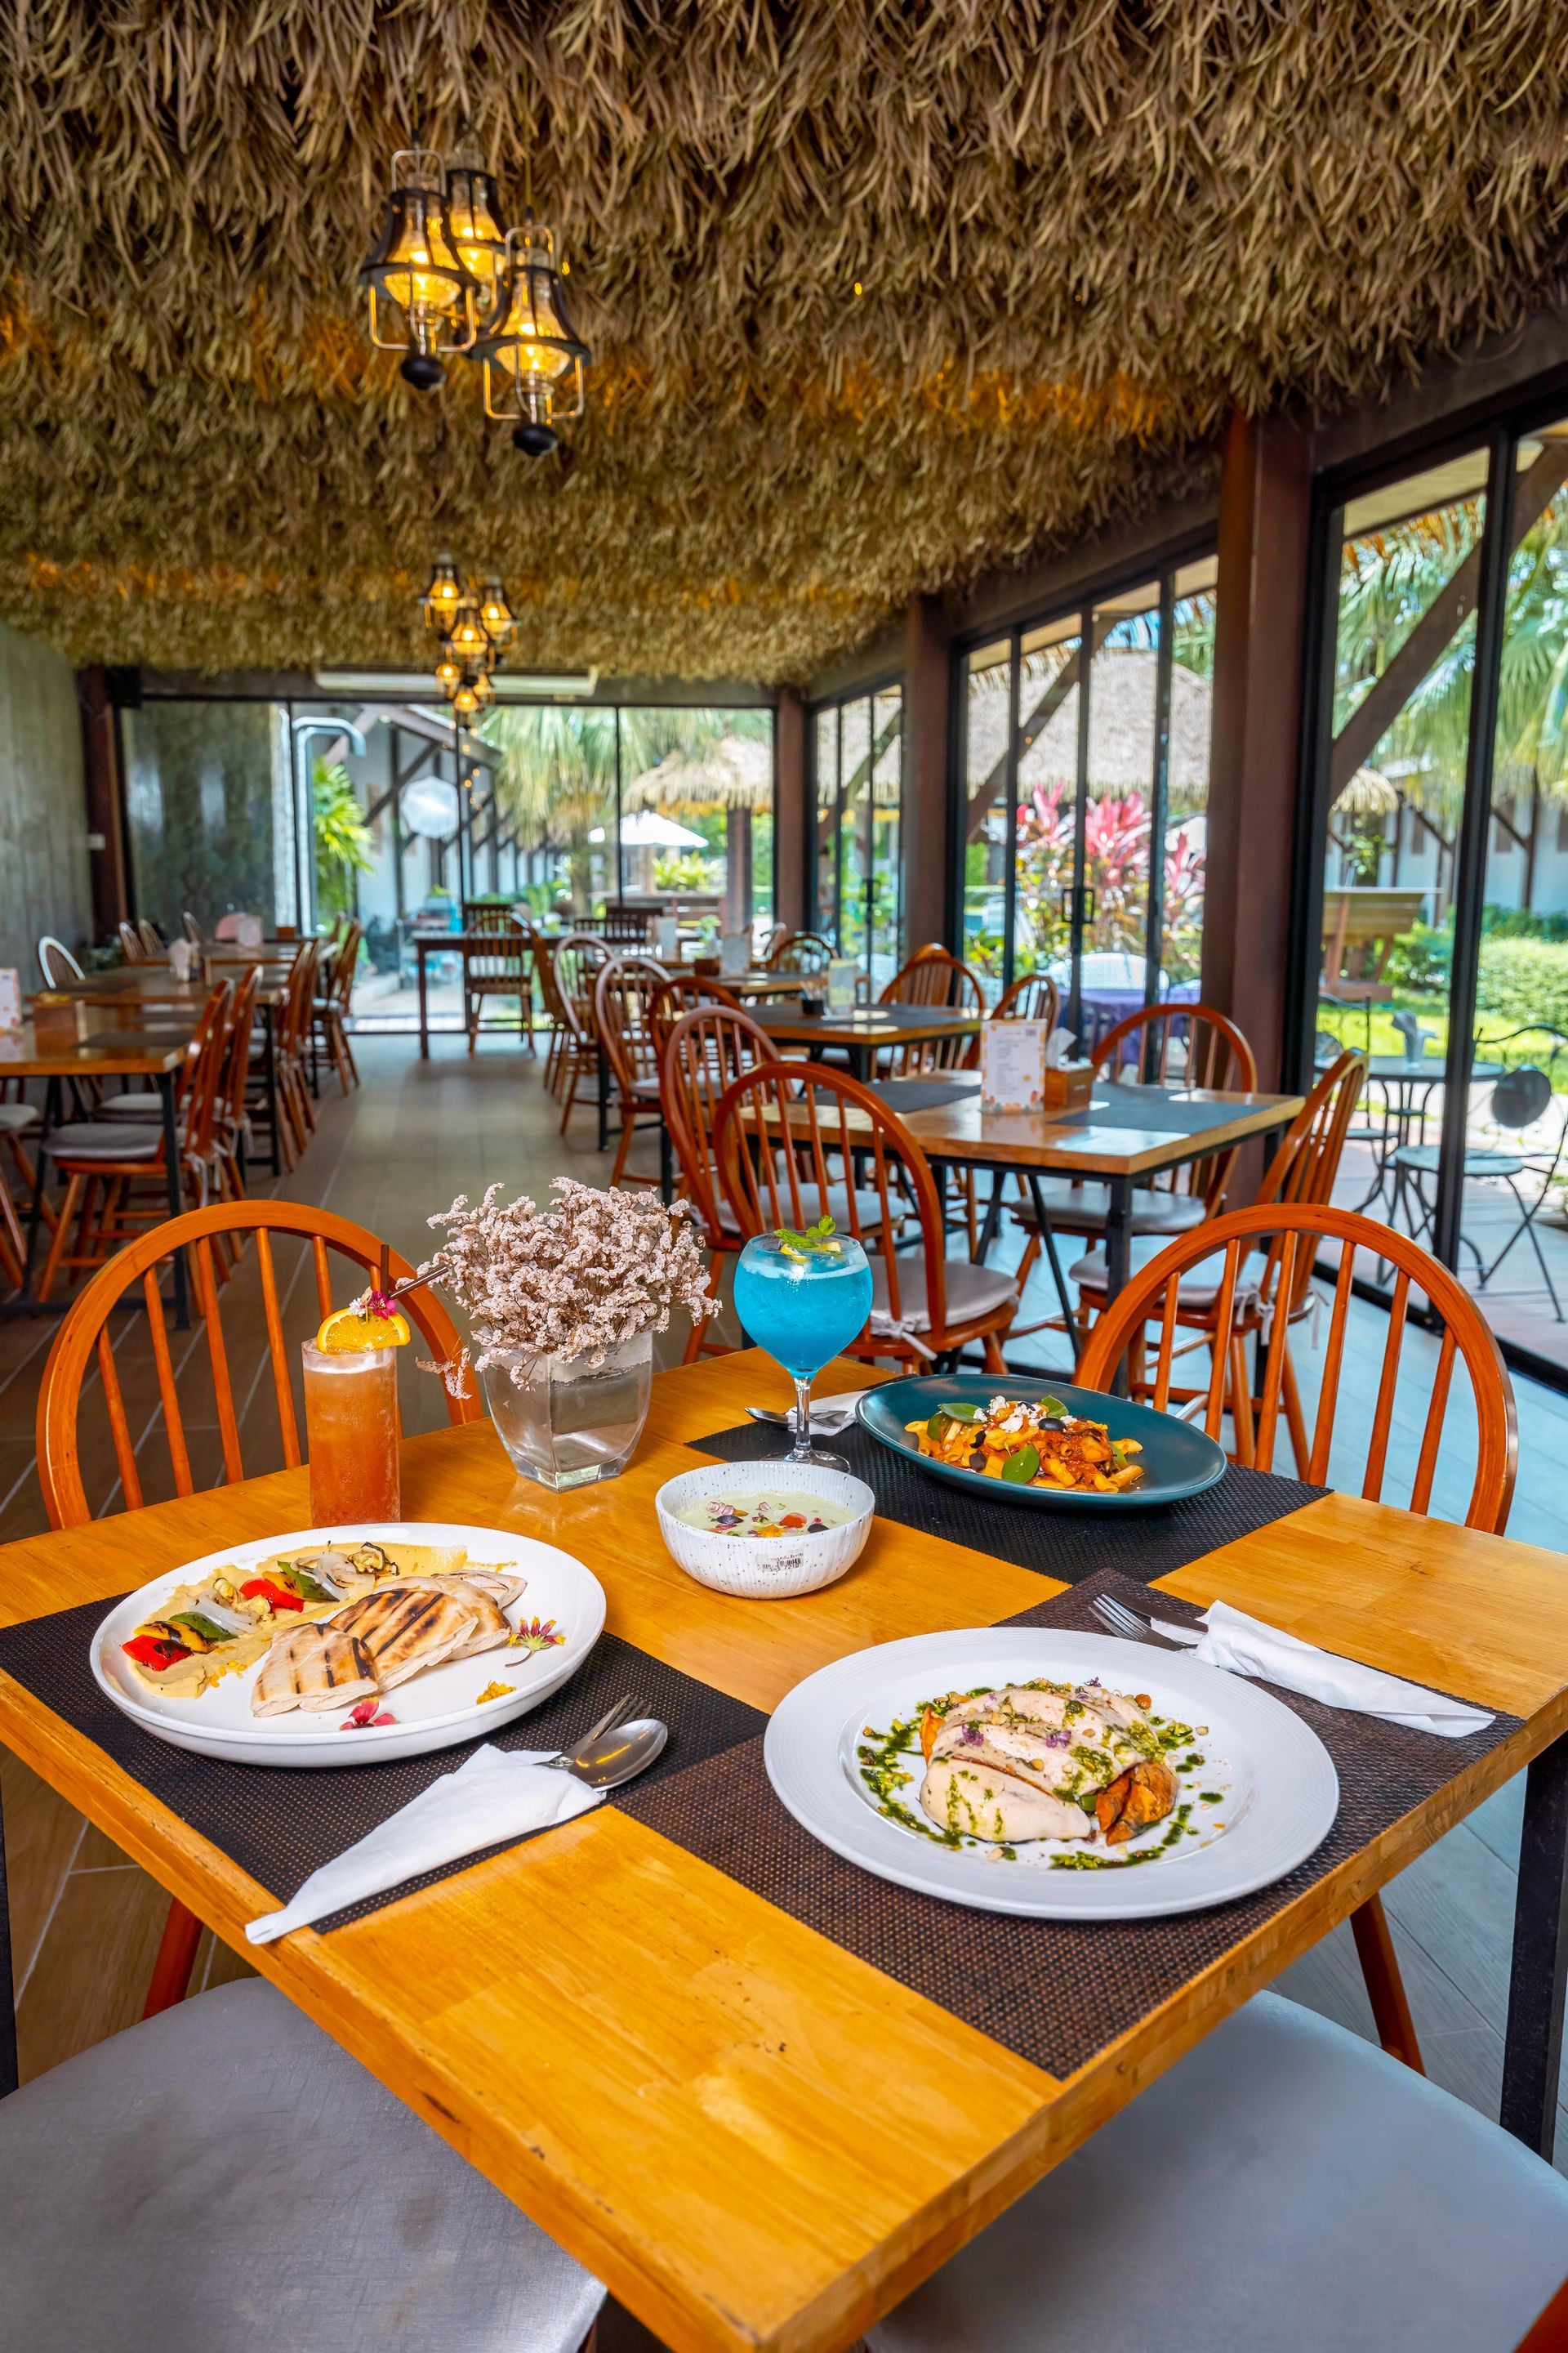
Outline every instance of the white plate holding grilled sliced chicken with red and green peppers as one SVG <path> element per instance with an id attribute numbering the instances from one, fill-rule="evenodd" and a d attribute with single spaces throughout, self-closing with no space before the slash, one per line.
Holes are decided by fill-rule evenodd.
<path id="1" fill-rule="evenodd" d="M 564 1640 L 538 1652 L 482 1649 L 473 1659 L 409 1675 L 386 1699 L 397 1718 L 395 1725 L 350 1729 L 343 1729 L 348 1708 L 322 1715 L 303 1711 L 252 1715 L 252 1682 L 261 1673 L 261 1659 L 240 1675 L 223 1675 L 195 1699 L 174 1699 L 153 1692 L 120 1649 L 143 1619 L 158 1617 L 174 1586 L 193 1586 L 209 1569 L 223 1567 L 247 1574 L 277 1553 L 320 1553 L 334 1537 L 339 1544 L 350 1541 L 343 1529 L 303 1527 L 254 1544 L 230 1544 L 221 1553 L 205 1553 L 179 1569 L 165 1569 L 110 1609 L 94 1633 L 92 1671 L 99 1689 L 160 1741 L 228 1758 L 233 1765 L 369 1765 L 383 1758 L 425 1755 L 430 1748 L 451 1748 L 498 1732 L 557 1692 L 604 1631 L 604 1586 L 592 1569 L 555 1544 L 536 1544 L 534 1537 L 503 1527 L 465 1527 L 456 1520 L 378 1520 L 355 1527 L 353 1541 L 386 1544 L 390 1551 L 397 1544 L 461 1544 L 475 1567 L 484 1562 L 527 1577 L 524 1591 L 505 1612 L 512 1626 L 555 1619 L 555 1631 Z M 489 1682 L 510 1682 L 515 1689 L 508 1699 L 487 1699 L 477 1706 Z"/>

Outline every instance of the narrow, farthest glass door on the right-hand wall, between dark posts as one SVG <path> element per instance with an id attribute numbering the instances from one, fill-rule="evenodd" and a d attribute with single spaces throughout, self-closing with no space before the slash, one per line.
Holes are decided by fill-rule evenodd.
<path id="1" fill-rule="evenodd" d="M 903 687 L 879 687 L 811 718 L 811 929 L 870 974 L 872 995 L 903 962 Z"/>

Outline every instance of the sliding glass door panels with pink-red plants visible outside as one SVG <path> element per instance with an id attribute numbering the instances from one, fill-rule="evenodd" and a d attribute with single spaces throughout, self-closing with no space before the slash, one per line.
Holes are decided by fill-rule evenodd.
<path id="1" fill-rule="evenodd" d="M 1048 972 L 1086 1042 L 1197 998 L 1213 558 L 964 656 L 961 946 L 987 995 Z"/>

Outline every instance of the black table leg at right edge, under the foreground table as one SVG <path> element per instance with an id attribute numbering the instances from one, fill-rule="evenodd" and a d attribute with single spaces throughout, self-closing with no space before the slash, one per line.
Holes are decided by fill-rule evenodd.
<path id="1" fill-rule="evenodd" d="M 1556 2132 L 1568 1984 L 1568 1734 L 1526 1772 L 1502 2125 L 1547 2165 Z"/>

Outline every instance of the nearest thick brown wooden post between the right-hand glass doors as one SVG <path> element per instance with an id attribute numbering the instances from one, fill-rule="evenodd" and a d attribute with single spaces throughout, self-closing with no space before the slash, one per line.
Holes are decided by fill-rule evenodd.
<path id="1" fill-rule="evenodd" d="M 1220 473 L 1204 1002 L 1241 1024 L 1265 1089 L 1279 1085 L 1284 1045 L 1309 511 L 1300 426 L 1232 416 Z"/>

